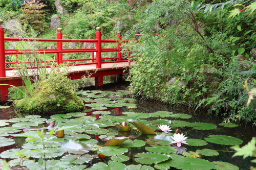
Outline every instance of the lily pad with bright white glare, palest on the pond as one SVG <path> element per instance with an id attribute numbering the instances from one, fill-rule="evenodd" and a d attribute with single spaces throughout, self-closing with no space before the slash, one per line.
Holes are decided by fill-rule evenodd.
<path id="1" fill-rule="evenodd" d="M 65 140 L 61 142 L 61 151 L 70 154 L 86 154 L 92 149 L 90 144 L 84 144 L 77 140 Z"/>

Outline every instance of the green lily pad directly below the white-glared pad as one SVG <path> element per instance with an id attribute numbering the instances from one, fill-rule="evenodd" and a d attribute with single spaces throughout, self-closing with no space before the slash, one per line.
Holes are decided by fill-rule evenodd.
<path id="1" fill-rule="evenodd" d="M 79 165 L 83 163 L 88 163 L 92 159 L 93 158 L 91 155 L 86 154 L 86 155 L 66 155 L 66 156 L 63 156 L 60 160 Z"/>

